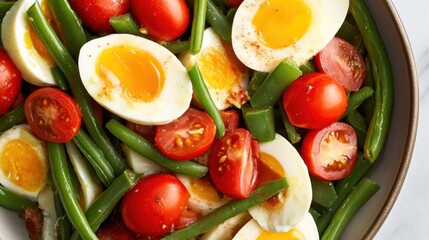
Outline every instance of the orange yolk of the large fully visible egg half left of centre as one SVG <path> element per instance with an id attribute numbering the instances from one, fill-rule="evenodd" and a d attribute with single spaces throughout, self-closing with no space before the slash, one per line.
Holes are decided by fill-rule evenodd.
<path id="1" fill-rule="evenodd" d="M 119 85 L 123 96 L 139 102 L 157 98 L 165 82 L 164 69 L 151 53 L 125 45 L 104 50 L 98 57 L 96 73 L 107 90 Z"/>

